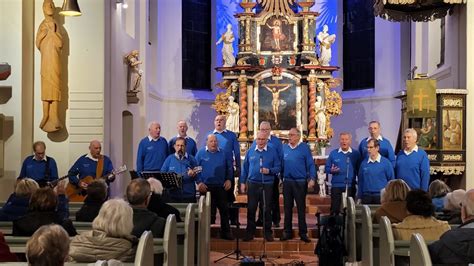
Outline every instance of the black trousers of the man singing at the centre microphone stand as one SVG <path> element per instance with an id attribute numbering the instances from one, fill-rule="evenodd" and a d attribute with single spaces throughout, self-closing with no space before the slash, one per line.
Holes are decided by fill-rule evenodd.
<path id="1" fill-rule="evenodd" d="M 265 191 L 265 193 L 263 193 Z M 272 203 L 273 184 L 248 183 L 247 189 L 247 236 L 255 235 L 255 214 L 257 206 L 264 206 L 265 194 L 265 224 L 263 225 L 265 236 L 272 235 L 272 220 L 270 215 L 270 206 Z M 262 208 L 263 209 L 263 208 Z"/>

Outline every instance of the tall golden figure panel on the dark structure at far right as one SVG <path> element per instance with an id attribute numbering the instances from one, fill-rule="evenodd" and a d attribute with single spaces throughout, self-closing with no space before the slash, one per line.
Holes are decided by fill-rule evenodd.
<path id="1" fill-rule="evenodd" d="M 443 149 L 462 150 L 462 110 L 443 110 Z"/>

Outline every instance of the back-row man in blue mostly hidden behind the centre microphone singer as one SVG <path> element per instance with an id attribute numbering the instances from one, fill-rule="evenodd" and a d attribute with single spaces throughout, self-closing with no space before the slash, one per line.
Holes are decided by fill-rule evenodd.
<path id="1" fill-rule="evenodd" d="M 270 125 L 270 122 L 268 121 L 262 121 L 260 123 L 259 127 L 260 131 L 265 133 L 268 136 L 268 145 L 274 148 L 279 157 L 280 157 L 280 163 L 281 160 L 283 159 L 283 145 L 281 144 L 281 140 L 272 135 L 272 127 Z M 257 142 L 254 140 L 252 143 L 252 146 L 250 149 L 255 149 L 255 146 L 257 145 Z M 280 214 L 280 173 L 275 175 L 275 180 L 273 182 L 273 198 L 272 198 L 272 208 L 271 208 L 271 215 L 272 215 L 272 222 L 274 227 L 279 227 L 280 226 L 280 220 L 281 220 L 281 214 Z M 262 226 L 262 217 L 263 217 L 263 208 L 259 208 L 258 212 L 258 219 L 257 219 L 257 226 Z"/>

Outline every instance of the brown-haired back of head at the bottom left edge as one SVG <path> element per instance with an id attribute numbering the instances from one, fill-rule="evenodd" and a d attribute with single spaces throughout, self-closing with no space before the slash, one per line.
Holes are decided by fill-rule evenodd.
<path id="1" fill-rule="evenodd" d="M 59 225 L 43 225 L 26 243 L 29 265 L 62 266 L 68 258 L 69 236 Z"/>

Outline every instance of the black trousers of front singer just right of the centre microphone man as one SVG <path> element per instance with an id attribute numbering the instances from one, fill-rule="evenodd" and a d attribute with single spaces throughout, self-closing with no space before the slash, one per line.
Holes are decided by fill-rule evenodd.
<path id="1" fill-rule="evenodd" d="M 285 211 L 284 232 L 292 235 L 293 203 L 296 202 L 298 210 L 298 229 L 300 237 L 306 236 L 308 227 L 306 225 L 306 193 L 308 192 L 307 182 L 283 182 L 283 206 Z"/>

